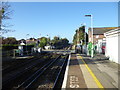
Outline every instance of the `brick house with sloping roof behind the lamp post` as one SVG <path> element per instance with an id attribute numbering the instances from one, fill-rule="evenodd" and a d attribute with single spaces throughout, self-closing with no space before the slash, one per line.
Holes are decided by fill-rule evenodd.
<path id="1" fill-rule="evenodd" d="M 117 29 L 118 27 L 98 27 L 93 28 L 93 42 L 94 45 L 97 46 L 97 52 L 98 53 L 104 53 L 102 47 L 105 47 L 106 44 L 106 37 L 104 36 L 105 32 L 108 32 L 113 29 Z M 91 28 L 88 29 L 88 41 L 92 42 L 92 32 Z"/>

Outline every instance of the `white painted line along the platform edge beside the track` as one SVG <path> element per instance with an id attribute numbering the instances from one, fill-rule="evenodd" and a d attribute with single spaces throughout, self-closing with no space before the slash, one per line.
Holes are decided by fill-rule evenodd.
<path id="1" fill-rule="evenodd" d="M 64 80 L 63 80 L 63 83 L 62 83 L 62 89 L 61 90 L 65 90 L 65 88 L 66 88 L 70 58 L 71 58 L 71 54 L 69 55 L 69 58 L 68 58 L 68 62 L 67 62 L 65 75 L 64 75 Z"/>

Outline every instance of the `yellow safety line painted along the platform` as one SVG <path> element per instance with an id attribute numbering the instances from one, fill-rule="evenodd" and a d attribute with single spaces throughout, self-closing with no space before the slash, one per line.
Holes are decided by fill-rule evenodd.
<path id="1" fill-rule="evenodd" d="M 92 72 L 92 70 L 88 67 L 88 65 L 85 63 L 85 61 L 83 60 L 82 56 L 80 56 L 80 58 L 82 59 L 82 62 L 85 64 L 86 68 L 88 69 L 89 73 L 91 74 L 91 76 L 93 77 L 94 81 L 96 82 L 97 86 L 99 88 L 101 88 L 102 90 L 104 90 L 102 84 L 99 82 L 99 80 L 97 79 L 97 77 L 94 75 L 94 73 Z"/>

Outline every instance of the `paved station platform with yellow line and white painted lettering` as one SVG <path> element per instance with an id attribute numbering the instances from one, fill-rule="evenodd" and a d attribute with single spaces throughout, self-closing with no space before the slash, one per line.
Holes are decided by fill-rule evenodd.
<path id="1" fill-rule="evenodd" d="M 62 89 L 73 88 L 118 90 L 118 64 L 100 55 L 70 54 Z"/>

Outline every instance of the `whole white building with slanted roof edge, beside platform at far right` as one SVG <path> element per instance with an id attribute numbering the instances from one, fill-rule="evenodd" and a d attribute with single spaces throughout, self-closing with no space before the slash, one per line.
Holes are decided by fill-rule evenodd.
<path id="1" fill-rule="evenodd" d="M 104 33 L 106 37 L 106 50 L 105 56 L 109 57 L 109 60 L 120 64 L 119 55 L 119 40 L 120 40 L 120 28 L 110 30 Z"/>

